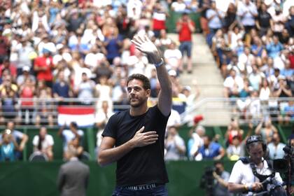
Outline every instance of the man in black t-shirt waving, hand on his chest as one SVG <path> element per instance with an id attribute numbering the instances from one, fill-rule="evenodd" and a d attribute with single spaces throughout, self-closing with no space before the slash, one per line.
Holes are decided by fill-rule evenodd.
<path id="1" fill-rule="evenodd" d="M 111 116 L 102 134 L 99 165 L 117 162 L 113 195 L 167 195 L 164 162 L 165 129 L 172 108 L 172 83 L 158 49 L 146 36 L 135 36 L 135 47 L 155 64 L 160 81 L 158 104 L 149 108 L 150 81 L 142 74 L 127 79 L 130 110 Z"/>

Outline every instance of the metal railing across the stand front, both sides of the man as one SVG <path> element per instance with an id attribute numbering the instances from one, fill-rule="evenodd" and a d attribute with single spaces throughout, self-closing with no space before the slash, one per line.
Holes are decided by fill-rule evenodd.
<path id="1" fill-rule="evenodd" d="M 57 125 L 58 107 L 87 107 L 97 112 L 101 108 L 101 100 L 96 98 L 85 100 L 78 98 L 68 99 L 22 99 L 16 98 L 13 109 L 1 105 L 0 118 L 4 122 L 13 119 L 18 125 L 34 125 L 36 119 L 40 118 L 42 124 L 48 124 L 52 120 L 53 125 Z M 153 102 L 154 100 L 151 100 Z M 294 97 L 270 98 L 268 100 L 248 99 L 248 98 L 205 98 L 195 102 L 192 106 L 187 106 L 186 111 L 181 113 L 182 123 L 191 123 L 195 115 L 204 116 L 203 125 L 228 125 L 231 118 L 239 119 L 240 123 L 248 123 L 248 120 L 258 121 L 264 118 L 271 118 L 277 121 L 283 114 L 283 109 L 288 102 L 294 101 Z M 113 111 L 129 109 L 127 104 L 116 104 L 109 100 L 110 108 Z M 113 103 L 113 104 L 112 104 Z M 24 105 L 26 104 L 26 105 Z M 256 108 L 254 108 L 256 107 Z M 2 122 L 3 123 L 3 122 Z"/>

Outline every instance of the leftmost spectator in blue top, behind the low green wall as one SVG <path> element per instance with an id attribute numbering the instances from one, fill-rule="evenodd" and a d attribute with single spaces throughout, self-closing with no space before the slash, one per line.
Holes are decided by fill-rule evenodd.
<path id="1" fill-rule="evenodd" d="M 10 130 L 5 130 L 1 134 L 0 141 L 0 162 L 11 162 L 17 160 L 15 152 L 18 150 L 16 143 Z"/>

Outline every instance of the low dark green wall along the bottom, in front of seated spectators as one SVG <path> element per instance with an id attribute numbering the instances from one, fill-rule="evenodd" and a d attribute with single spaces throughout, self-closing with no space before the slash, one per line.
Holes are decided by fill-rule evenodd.
<path id="1" fill-rule="evenodd" d="M 63 162 L 4 162 L 0 164 L 0 196 L 49 196 L 59 195 L 56 179 Z M 99 167 L 97 162 L 86 162 L 90 166 L 90 184 L 87 195 L 109 196 L 115 183 L 115 165 Z M 170 196 L 205 195 L 199 188 L 204 168 L 213 162 L 167 162 Z M 230 171 L 234 162 L 225 162 Z"/>

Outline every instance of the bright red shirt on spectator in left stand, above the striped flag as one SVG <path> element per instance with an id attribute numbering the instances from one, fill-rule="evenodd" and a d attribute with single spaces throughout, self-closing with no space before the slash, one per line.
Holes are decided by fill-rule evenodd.
<path id="1" fill-rule="evenodd" d="M 52 76 L 52 57 L 37 57 L 35 59 L 34 66 L 36 67 L 45 67 L 45 70 L 40 70 L 37 71 L 37 79 L 38 80 L 45 80 L 45 81 L 52 81 L 53 76 Z"/>

